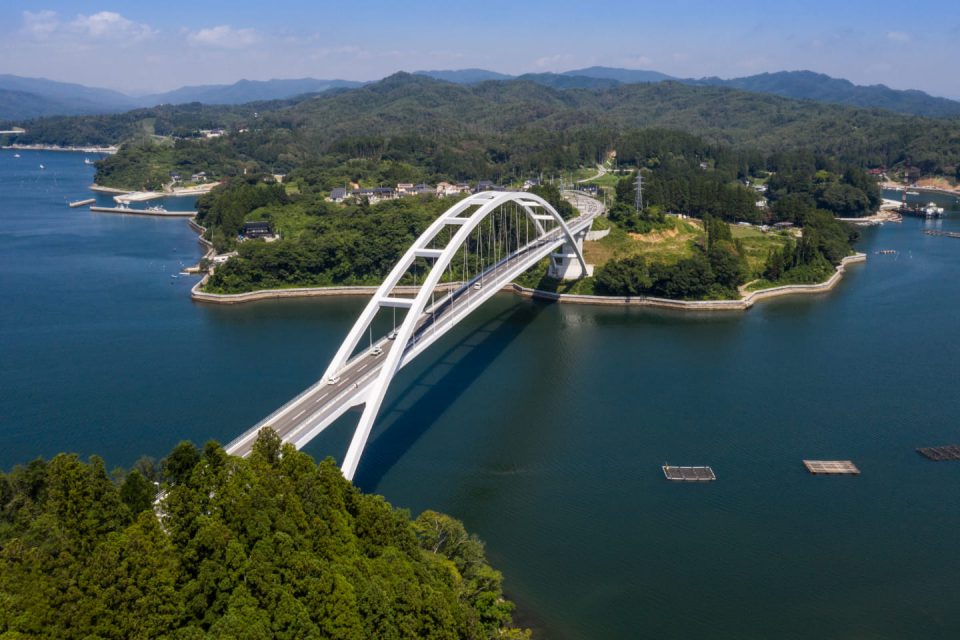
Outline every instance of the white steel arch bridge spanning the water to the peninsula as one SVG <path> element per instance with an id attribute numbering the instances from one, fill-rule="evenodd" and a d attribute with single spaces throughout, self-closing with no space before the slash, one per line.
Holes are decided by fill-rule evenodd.
<path id="1" fill-rule="evenodd" d="M 390 271 L 323 378 L 226 451 L 246 456 L 265 426 L 299 449 L 348 409 L 364 405 L 342 466 L 352 480 L 400 368 L 545 257 L 551 257 L 552 275 L 569 279 L 589 273 L 582 242 L 603 208 L 582 194 L 566 195 L 581 212 L 566 221 L 542 198 L 522 192 L 485 191 L 450 207 Z M 374 332 L 386 335 L 374 339 Z"/>

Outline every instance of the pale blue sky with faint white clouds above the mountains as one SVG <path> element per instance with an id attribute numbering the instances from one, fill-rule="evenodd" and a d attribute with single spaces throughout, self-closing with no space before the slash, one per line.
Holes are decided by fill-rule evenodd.
<path id="1" fill-rule="evenodd" d="M 593 65 L 723 78 L 809 69 L 960 99 L 957 0 L 2 0 L 0 73 L 143 94 Z"/>

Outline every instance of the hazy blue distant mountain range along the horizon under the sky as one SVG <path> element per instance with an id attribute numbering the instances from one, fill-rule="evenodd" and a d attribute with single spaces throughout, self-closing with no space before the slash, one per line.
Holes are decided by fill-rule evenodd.
<path id="1" fill-rule="evenodd" d="M 415 75 L 461 85 L 481 82 L 526 80 L 554 89 L 604 91 L 624 84 L 664 81 L 690 85 L 708 85 L 767 93 L 786 98 L 811 100 L 848 106 L 888 109 L 899 113 L 930 117 L 960 116 L 960 102 L 937 98 L 922 91 L 901 91 L 884 85 L 859 86 L 848 80 L 831 78 L 812 71 L 780 71 L 744 78 L 675 78 L 658 71 L 588 67 L 563 73 L 528 73 L 511 76 L 485 69 L 417 71 Z M 128 96 L 117 91 L 54 82 L 39 78 L 0 75 L 0 120 L 26 120 L 49 115 L 85 115 L 116 113 L 159 104 L 244 104 L 261 100 L 281 100 L 294 96 L 322 93 L 332 89 L 355 89 L 366 83 L 350 80 L 240 80 L 229 85 L 182 87 L 148 96 Z"/>

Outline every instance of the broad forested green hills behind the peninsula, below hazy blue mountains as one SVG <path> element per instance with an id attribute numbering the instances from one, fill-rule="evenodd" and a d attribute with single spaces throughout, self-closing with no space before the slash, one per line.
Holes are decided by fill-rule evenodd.
<path id="1" fill-rule="evenodd" d="M 674 82 L 606 90 L 554 89 L 524 80 L 463 86 L 396 74 L 353 90 L 237 107 L 166 106 L 114 116 L 23 124 L 20 142 L 61 144 L 196 136 L 222 127 L 221 176 L 255 166 L 285 173 L 350 159 L 429 164 L 450 179 L 519 176 L 592 165 L 611 149 L 629 159 L 631 132 L 668 128 L 718 146 L 765 154 L 806 149 L 860 167 L 910 166 L 955 175 L 960 120 L 791 100 Z M 194 151 L 183 147 L 172 163 Z M 429 159 L 429 163 L 425 160 Z M 102 174 L 99 179 L 110 181 Z M 119 184 L 120 180 L 113 180 Z"/>

